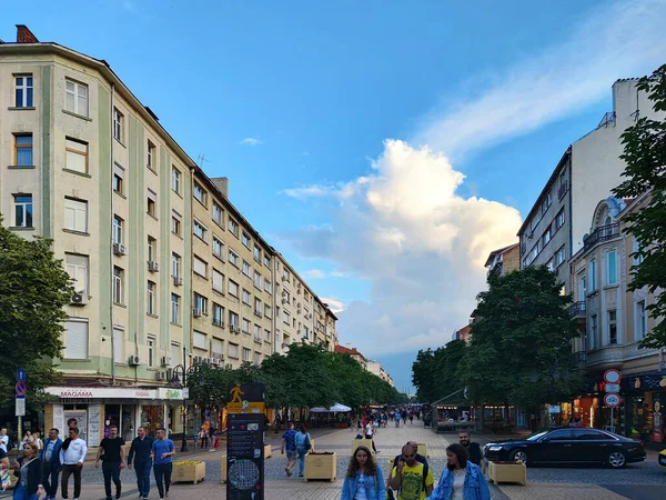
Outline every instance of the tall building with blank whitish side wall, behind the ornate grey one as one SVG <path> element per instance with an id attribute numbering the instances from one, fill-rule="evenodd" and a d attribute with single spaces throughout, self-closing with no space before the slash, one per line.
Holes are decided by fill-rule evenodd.
<path id="1" fill-rule="evenodd" d="M 620 182 L 625 169 L 619 159 L 622 133 L 639 117 L 664 118 L 654 112 L 636 82 L 626 79 L 613 84 L 613 111 L 567 148 L 518 231 L 521 268 L 548 266 L 566 292 L 571 291 L 569 272 L 563 264 L 583 248 L 596 201 L 610 196 Z"/>

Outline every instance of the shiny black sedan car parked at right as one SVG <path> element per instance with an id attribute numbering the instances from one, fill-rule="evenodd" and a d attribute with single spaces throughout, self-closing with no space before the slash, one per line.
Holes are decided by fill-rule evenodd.
<path id="1" fill-rule="evenodd" d="M 599 429 L 559 427 L 524 439 L 491 442 L 483 449 L 488 461 L 533 463 L 603 463 L 614 469 L 645 460 L 643 442 Z"/>

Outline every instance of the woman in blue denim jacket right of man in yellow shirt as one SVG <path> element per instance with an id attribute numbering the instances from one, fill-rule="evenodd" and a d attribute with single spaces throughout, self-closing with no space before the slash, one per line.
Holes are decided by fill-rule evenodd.
<path id="1" fill-rule="evenodd" d="M 426 500 L 491 500 L 488 483 L 462 444 L 446 448 L 446 469 Z"/>

